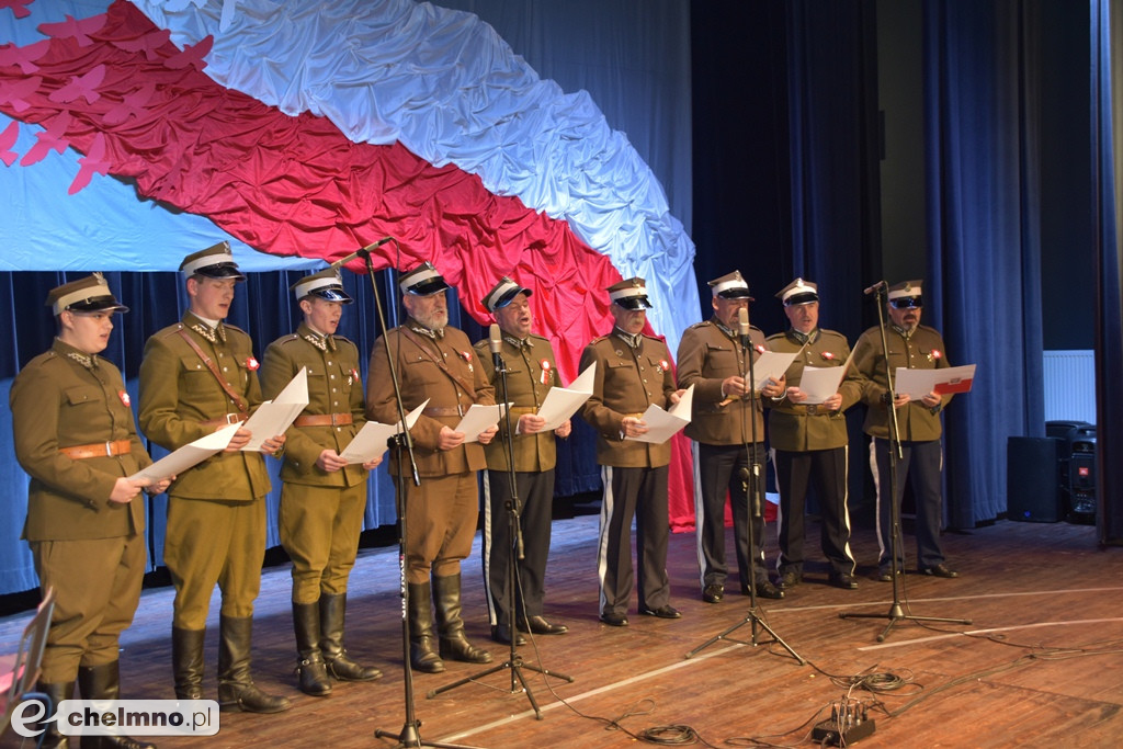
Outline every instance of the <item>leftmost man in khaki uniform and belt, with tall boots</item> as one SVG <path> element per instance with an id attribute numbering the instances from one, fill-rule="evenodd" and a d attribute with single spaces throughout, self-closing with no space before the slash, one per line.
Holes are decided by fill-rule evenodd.
<path id="1" fill-rule="evenodd" d="M 120 694 L 118 640 L 140 601 L 146 561 L 140 492 L 162 492 L 168 482 L 128 477 L 152 458 L 133 426 L 120 371 L 98 356 L 113 313 L 128 308 L 98 273 L 52 290 L 47 307 L 54 344 L 17 375 L 9 405 L 16 458 L 31 477 L 24 538 L 39 586 L 55 591 L 37 688 L 57 707 L 72 697 L 75 677 L 83 700 Z M 40 746 L 69 746 L 54 722 L 43 728 Z M 100 741 L 152 746 L 128 737 Z"/>

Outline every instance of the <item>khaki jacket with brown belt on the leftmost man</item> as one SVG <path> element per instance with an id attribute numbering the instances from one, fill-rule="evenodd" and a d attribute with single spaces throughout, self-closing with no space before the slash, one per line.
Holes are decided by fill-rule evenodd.
<path id="1" fill-rule="evenodd" d="M 81 362 L 90 362 L 85 367 Z M 120 371 L 55 339 L 16 376 L 9 393 L 16 458 L 30 477 L 24 538 L 117 538 L 144 531 L 144 499 L 111 503 L 121 476 L 152 464 L 137 438 Z M 129 440 L 117 456 L 72 459 L 61 447 Z"/>

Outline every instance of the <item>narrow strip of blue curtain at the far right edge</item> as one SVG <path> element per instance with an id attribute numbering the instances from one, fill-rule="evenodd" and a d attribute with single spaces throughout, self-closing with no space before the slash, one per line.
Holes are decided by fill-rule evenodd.
<path id="1" fill-rule="evenodd" d="M 1123 80 L 1112 77 L 1112 43 L 1116 74 L 1123 55 L 1123 13 L 1111 16 L 1110 0 L 1093 0 L 1092 9 L 1092 174 L 1093 231 L 1097 247 L 1098 320 L 1096 325 L 1096 524 L 1102 544 L 1123 544 L 1123 464 L 1117 455 L 1123 424 L 1123 393 L 1117 383 L 1123 372 L 1123 248 L 1117 235 L 1120 202 L 1117 181 L 1123 176 L 1121 137 L 1113 127 L 1113 110 L 1123 101 Z M 1115 4 L 1115 10 L 1120 6 Z"/>

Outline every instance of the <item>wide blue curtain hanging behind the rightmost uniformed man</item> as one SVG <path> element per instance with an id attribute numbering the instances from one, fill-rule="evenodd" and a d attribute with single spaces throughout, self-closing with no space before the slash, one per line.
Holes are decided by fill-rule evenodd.
<path id="1" fill-rule="evenodd" d="M 924 6 L 929 320 L 975 391 L 946 418 L 947 512 L 1006 510 L 1006 442 L 1044 435 L 1035 18 L 1016 0 Z"/>

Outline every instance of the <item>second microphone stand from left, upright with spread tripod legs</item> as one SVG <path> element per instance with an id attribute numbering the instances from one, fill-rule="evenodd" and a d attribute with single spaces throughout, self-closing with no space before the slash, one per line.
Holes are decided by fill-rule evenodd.
<path id="1" fill-rule="evenodd" d="M 518 616 L 515 615 L 515 586 L 519 584 L 519 560 L 523 558 L 523 546 L 522 546 L 522 523 L 519 522 L 520 513 L 522 512 L 522 504 L 519 500 L 519 488 L 518 488 L 518 475 L 514 471 L 514 427 L 511 421 L 511 399 L 508 394 L 506 384 L 506 365 L 503 363 L 503 357 L 499 351 L 493 351 L 492 356 L 495 360 L 495 374 L 500 377 L 500 383 L 503 390 L 503 396 L 501 402 L 506 404 L 504 408 L 504 419 L 506 426 L 506 438 L 503 439 L 503 446 L 506 449 L 506 466 L 508 466 L 508 481 L 511 485 L 511 496 L 505 503 L 506 509 L 506 528 L 508 528 L 508 540 L 511 542 L 511 554 L 509 558 L 509 564 L 506 566 L 506 611 L 508 611 L 508 627 L 509 633 L 511 636 L 511 645 L 506 660 L 501 664 L 496 664 L 483 672 L 465 676 L 462 679 L 453 682 L 451 684 L 446 684 L 439 686 L 436 689 L 429 691 L 426 695 L 430 700 L 436 697 L 438 694 L 448 692 L 449 689 L 455 689 L 458 686 L 463 686 L 469 682 L 483 678 L 484 676 L 491 676 L 492 674 L 497 674 L 501 670 L 511 670 L 511 689 L 510 694 L 519 693 L 519 685 L 522 685 L 522 693 L 527 695 L 527 700 L 530 701 L 530 706 L 535 710 L 535 718 L 542 720 L 542 712 L 538 707 L 538 702 L 535 701 L 535 695 L 530 691 L 530 686 L 527 684 L 527 679 L 522 676 L 522 670 L 532 670 L 544 676 L 553 676 L 555 678 L 565 679 L 566 682 L 573 683 L 572 676 L 566 676 L 565 674 L 557 674 L 545 668 L 539 668 L 538 666 L 532 666 L 522 659 L 519 651 L 515 649 L 515 640 L 518 639 L 518 629 L 515 628 L 515 621 Z M 523 614 L 526 614 L 526 602 L 523 602 Z M 526 618 L 526 616 L 524 616 Z M 527 629 L 530 629 L 529 627 Z M 533 636 L 531 636 L 533 637 Z"/>

